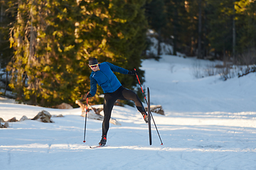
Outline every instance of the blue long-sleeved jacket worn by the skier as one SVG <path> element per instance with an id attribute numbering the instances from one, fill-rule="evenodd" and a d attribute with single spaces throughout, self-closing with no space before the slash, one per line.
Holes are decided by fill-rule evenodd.
<path id="1" fill-rule="evenodd" d="M 104 93 L 112 93 L 116 91 L 122 84 L 114 75 L 113 72 L 119 72 L 122 74 L 128 74 L 127 69 L 118 67 L 110 62 L 102 62 L 99 64 L 100 70 L 90 74 L 90 94 L 95 96 L 97 91 L 97 84 L 102 87 Z"/>

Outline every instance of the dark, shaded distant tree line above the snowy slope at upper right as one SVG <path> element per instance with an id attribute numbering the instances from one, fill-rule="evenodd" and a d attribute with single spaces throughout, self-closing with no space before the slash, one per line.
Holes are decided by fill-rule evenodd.
<path id="1" fill-rule="evenodd" d="M 242 64 L 241 56 L 255 51 L 255 8 L 249 0 L 155 0 L 146 5 L 146 16 L 174 55 Z"/>

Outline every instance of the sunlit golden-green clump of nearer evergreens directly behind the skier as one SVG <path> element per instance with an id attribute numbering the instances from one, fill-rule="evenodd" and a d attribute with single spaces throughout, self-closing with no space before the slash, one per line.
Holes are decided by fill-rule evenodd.
<path id="1" fill-rule="evenodd" d="M 75 104 L 90 89 L 89 57 L 138 68 L 146 33 L 144 3 L 19 0 L 9 65 L 18 99 L 41 106 Z M 124 86 L 136 84 L 117 76 Z"/>

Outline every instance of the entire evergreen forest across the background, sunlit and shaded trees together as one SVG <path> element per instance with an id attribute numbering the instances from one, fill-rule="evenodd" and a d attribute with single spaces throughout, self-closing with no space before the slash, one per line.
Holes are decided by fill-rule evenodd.
<path id="1" fill-rule="evenodd" d="M 159 42 L 198 59 L 256 64 L 255 0 L 1 0 L 2 89 L 19 102 L 75 106 L 90 90 L 87 60 L 139 69 L 153 30 Z M 156 56 L 157 57 L 157 56 Z M 128 89 L 136 77 L 117 74 Z M 90 103 L 102 102 L 102 89 Z M 141 95 L 141 94 L 140 94 Z"/>

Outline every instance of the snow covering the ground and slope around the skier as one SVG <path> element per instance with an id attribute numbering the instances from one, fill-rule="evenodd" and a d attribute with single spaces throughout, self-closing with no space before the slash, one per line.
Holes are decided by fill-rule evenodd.
<path id="1" fill-rule="evenodd" d="M 39 111 L 55 123 L 35 120 L 10 123 L 0 129 L 1 169 L 256 169 L 256 74 L 223 81 L 219 75 L 196 79 L 195 58 L 162 55 L 159 62 L 144 60 L 151 104 L 165 115 L 153 113 L 164 145 L 152 124 L 149 145 L 147 124 L 136 108 L 114 106 L 107 147 L 90 149 L 101 137 L 100 120 L 85 118 L 80 108 L 60 110 L 10 103 L 0 98 L 4 120 Z M 218 64 L 200 60 L 201 67 Z M 145 105 L 146 106 L 146 105 Z M 98 106 L 95 106 L 98 107 Z"/>

